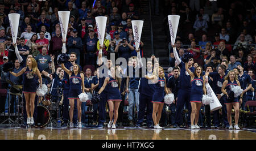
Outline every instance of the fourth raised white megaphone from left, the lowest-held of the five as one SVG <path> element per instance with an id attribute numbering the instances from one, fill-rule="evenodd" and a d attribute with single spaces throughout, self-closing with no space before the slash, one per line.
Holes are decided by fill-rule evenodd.
<path id="1" fill-rule="evenodd" d="M 141 33 L 143 27 L 143 20 L 132 20 L 131 26 L 133 27 L 133 37 L 135 42 L 135 50 L 139 50 L 139 43 L 141 42 Z"/>

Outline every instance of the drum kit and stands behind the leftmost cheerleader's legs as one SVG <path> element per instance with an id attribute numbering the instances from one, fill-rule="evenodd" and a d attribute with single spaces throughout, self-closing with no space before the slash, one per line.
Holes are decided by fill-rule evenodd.
<path id="1" fill-rule="evenodd" d="M 23 85 L 15 85 L 12 81 L 6 80 L 7 83 L 10 84 L 8 95 L 8 118 L 0 123 L 0 126 L 5 125 L 7 127 L 24 127 L 24 117 L 23 117 L 23 96 L 22 96 L 22 88 Z M 62 89 L 62 88 L 56 88 Z M 15 96 L 18 98 L 16 103 L 16 119 L 11 119 L 11 96 Z M 60 123 L 63 123 L 60 117 L 59 110 L 59 97 L 57 97 L 57 101 L 53 100 L 51 94 L 46 94 L 45 96 L 38 97 L 38 105 L 36 106 L 38 109 L 37 118 L 35 121 L 36 127 L 60 127 Z M 56 101 L 56 102 L 55 102 Z M 21 114 L 20 114 L 21 110 Z M 56 118 L 53 118 L 56 115 Z M 7 124 L 5 124 L 7 123 Z"/>

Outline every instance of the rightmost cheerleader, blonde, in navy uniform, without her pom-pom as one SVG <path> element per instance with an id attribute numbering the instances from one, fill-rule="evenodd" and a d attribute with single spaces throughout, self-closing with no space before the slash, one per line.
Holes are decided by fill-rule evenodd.
<path id="1" fill-rule="evenodd" d="M 241 87 L 240 82 L 238 81 L 237 74 L 235 73 L 234 70 L 231 70 L 228 72 L 228 75 L 225 77 L 225 81 L 223 82 L 222 87 L 221 87 L 221 92 L 226 94 L 225 105 L 226 105 L 226 110 L 227 110 L 227 118 L 228 118 L 228 122 L 229 122 L 229 130 L 233 129 L 232 115 L 231 115 L 232 106 L 234 107 L 234 111 L 235 111 L 234 128 L 236 130 L 240 130 L 240 128 L 238 127 L 239 107 L 240 107 L 239 103 L 242 103 L 243 93 L 240 96 L 240 100 L 238 100 L 238 97 L 233 97 L 233 96 L 228 95 L 228 91 L 232 90 L 232 87 L 236 87 L 236 86 Z"/>

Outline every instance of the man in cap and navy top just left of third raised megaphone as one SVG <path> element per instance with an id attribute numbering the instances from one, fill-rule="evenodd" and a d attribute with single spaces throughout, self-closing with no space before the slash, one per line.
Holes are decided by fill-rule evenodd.
<path id="1" fill-rule="evenodd" d="M 85 44 L 86 44 L 86 63 L 85 64 L 92 64 L 95 65 L 96 63 L 96 51 L 97 51 L 97 37 L 94 36 L 93 29 L 90 29 L 89 36 L 86 38 Z"/>

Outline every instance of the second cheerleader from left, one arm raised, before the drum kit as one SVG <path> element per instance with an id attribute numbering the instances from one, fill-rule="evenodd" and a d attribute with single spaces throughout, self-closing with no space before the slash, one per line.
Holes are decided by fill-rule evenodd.
<path id="1" fill-rule="evenodd" d="M 73 65 L 73 71 L 68 70 L 65 68 L 64 64 L 61 63 L 61 68 L 69 75 L 69 92 L 68 92 L 68 99 L 69 99 L 69 105 L 70 105 L 70 110 L 69 110 L 69 118 L 70 118 L 70 123 L 69 123 L 69 128 L 73 128 L 73 110 L 74 110 L 74 103 L 75 99 L 77 101 L 77 114 L 79 118 L 79 123 L 78 123 L 78 128 L 82 128 L 82 123 L 81 123 L 81 116 L 82 116 L 82 111 L 81 111 L 81 101 L 79 99 L 79 94 L 84 93 L 84 74 L 81 73 L 80 67 L 78 64 Z"/>

